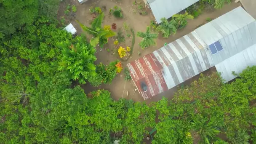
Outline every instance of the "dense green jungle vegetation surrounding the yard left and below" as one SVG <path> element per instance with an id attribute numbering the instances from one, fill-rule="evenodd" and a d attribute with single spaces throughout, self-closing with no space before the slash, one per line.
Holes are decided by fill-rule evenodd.
<path id="1" fill-rule="evenodd" d="M 256 66 L 226 84 L 202 75 L 150 105 L 84 93 L 72 82 L 110 83 L 118 61 L 94 64 L 93 42 L 59 27 L 58 5 L 0 0 L 0 143 L 140 144 L 153 128 L 153 144 L 256 143 Z"/>

